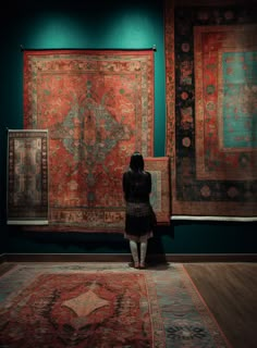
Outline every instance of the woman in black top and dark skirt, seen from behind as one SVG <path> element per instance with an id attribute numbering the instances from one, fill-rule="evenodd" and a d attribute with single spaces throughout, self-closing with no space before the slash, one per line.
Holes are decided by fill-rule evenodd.
<path id="1" fill-rule="evenodd" d="M 123 173 L 122 183 L 126 202 L 124 238 L 130 240 L 135 269 L 145 268 L 147 243 L 154 236 L 152 208 L 149 199 L 151 174 L 144 167 L 143 156 L 135 151 L 131 157 L 130 169 Z"/>

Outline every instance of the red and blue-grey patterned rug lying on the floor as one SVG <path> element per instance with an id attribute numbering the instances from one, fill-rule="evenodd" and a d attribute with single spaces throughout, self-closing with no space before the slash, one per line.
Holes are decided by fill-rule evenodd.
<path id="1" fill-rule="evenodd" d="M 124 263 L 25 263 L 4 270 L 1 347 L 230 347 L 181 264 L 136 271 Z"/>

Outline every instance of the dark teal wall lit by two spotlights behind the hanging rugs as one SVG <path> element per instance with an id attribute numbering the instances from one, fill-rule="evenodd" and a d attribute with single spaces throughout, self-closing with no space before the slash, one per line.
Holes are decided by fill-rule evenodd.
<path id="1" fill-rule="evenodd" d="M 32 1 L 30 1 L 32 2 Z M 87 3 L 87 1 L 84 1 Z M 99 4 L 102 2 L 102 4 Z M 7 127 L 23 127 L 23 53 L 25 49 L 151 48 L 155 52 L 155 156 L 164 156 L 166 75 L 163 8 L 160 0 L 93 1 L 79 5 L 49 1 L 44 8 L 26 1 L 26 8 L 1 13 L 0 113 L 0 252 L 126 253 L 127 243 L 115 234 L 21 233 L 5 225 Z M 50 4 L 51 3 L 51 4 Z M 54 3 L 54 5 L 53 5 Z M 20 5 L 22 7 L 22 5 Z M 14 12 L 15 11 L 15 12 Z M 3 24 L 4 23 L 4 24 Z M 7 24 L 8 23 L 8 24 Z M 253 253 L 255 223 L 175 222 L 159 227 L 149 252 Z M 255 231 L 256 229 L 256 231 Z"/>

